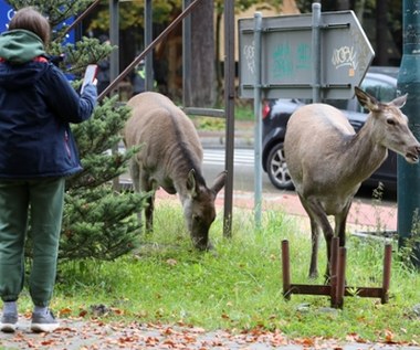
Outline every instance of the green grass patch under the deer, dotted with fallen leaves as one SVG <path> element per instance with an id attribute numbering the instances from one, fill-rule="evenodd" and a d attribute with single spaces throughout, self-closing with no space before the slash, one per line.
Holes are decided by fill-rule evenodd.
<path id="1" fill-rule="evenodd" d="M 234 209 L 232 238 L 222 236 L 222 213 L 211 229 L 217 253 L 191 248 L 178 203 L 157 203 L 156 233 L 133 254 L 115 262 L 70 262 L 60 265 L 54 304 L 60 317 L 94 316 L 105 305 L 106 319 L 141 322 L 183 322 L 212 329 L 263 328 L 290 338 L 327 337 L 344 340 L 419 343 L 420 274 L 393 256 L 390 300 L 346 297 L 342 310 L 330 310 L 329 298 L 282 296 L 281 242 L 288 240 L 292 282 L 307 279 L 309 237 L 295 216 L 265 211 L 260 232 L 253 215 Z M 348 237 L 347 282 L 380 286 L 381 243 Z M 322 240 L 319 269 L 325 267 Z M 322 280 L 311 282 L 322 284 Z M 28 296 L 21 304 L 30 310 Z"/>

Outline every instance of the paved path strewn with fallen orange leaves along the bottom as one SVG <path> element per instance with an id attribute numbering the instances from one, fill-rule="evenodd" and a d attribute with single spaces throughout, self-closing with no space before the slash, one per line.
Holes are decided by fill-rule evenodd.
<path id="1" fill-rule="evenodd" d="M 116 349 L 188 349 L 188 350 L 420 350 L 420 347 L 350 341 L 342 343 L 328 339 L 303 339 L 291 342 L 279 332 L 232 335 L 227 331 L 206 332 L 202 328 L 141 325 L 133 322 L 103 324 L 63 320 L 53 333 L 30 332 L 29 320 L 20 320 L 14 333 L 0 335 L 1 350 L 116 350 Z"/>

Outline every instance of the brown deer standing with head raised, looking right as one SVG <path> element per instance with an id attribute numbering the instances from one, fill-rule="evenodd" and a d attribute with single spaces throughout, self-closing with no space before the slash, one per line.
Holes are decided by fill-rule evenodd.
<path id="1" fill-rule="evenodd" d="M 319 229 L 327 246 L 326 278 L 334 231 L 327 215 L 335 218 L 335 234 L 345 246 L 347 214 L 361 182 L 385 161 L 388 148 L 409 163 L 419 161 L 420 144 L 400 108 L 407 95 L 390 103 L 356 89 L 359 103 L 369 109 L 356 134 L 345 115 L 325 104 L 311 104 L 291 116 L 284 139 L 288 171 L 302 205 L 311 220 L 312 256 L 309 277 L 316 277 Z"/>

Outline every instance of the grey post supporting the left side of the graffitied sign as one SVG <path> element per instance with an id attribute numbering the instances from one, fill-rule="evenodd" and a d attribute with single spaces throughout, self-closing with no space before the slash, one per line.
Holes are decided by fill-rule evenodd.
<path id="1" fill-rule="evenodd" d="M 262 204 L 262 176 L 261 176 L 261 149 L 262 149 L 262 120 L 261 120 L 261 31 L 262 13 L 254 13 L 254 215 L 255 229 L 261 229 L 261 204 Z"/>

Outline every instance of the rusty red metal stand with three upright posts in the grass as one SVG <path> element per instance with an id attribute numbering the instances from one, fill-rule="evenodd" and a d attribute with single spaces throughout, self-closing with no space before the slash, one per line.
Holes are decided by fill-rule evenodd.
<path id="1" fill-rule="evenodd" d="M 384 276 L 381 287 L 349 287 L 346 286 L 346 248 L 339 247 L 338 238 L 332 242 L 332 276 L 327 285 L 302 285 L 291 283 L 288 241 L 282 242 L 283 266 L 283 296 L 290 299 L 292 294 L 325 295 L 330 297 L 334 308 L 343 308 L 345 296 L 380 298 L 382 304 L 388 303 L 389 282 L 391 273 L 392 246 L 385 245 Z"/>

